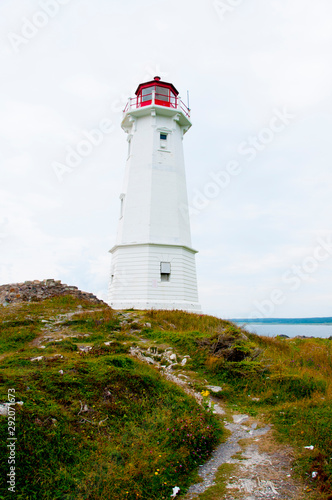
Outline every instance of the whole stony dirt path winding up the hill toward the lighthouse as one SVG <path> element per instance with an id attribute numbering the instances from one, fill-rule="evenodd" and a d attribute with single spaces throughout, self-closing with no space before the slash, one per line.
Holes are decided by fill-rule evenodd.
<path id="1" fill-rule="evenodd" d="M 201 403 L 202 395 L 191 387 L 188 372 L 174 372 L 181 365 L 181 356 L 173 349 L 162 356 L 151 349 L 132 348 L 131 354 L 154 364 L 168 380 L 176 383 Z M 175 358 L 174 358 L 175 356 Z M 173 359 L 172 359 L 173 357 Z M 165 358 L 173 361 L 163 367 Z M 183 361 L 183 359 L 182 359 Z M 209 386 L 207 386 L 209 389 Z M 273 429 L 259 419 L 236 414 L 211 398 L 214 413 L 224 421 L 229 432 L 226 441 L 213 452 L 210 460 L 200 466 L 201 482 L 193 484 L 183 500 L 313 500 L 311 489 L 295 479 L 292 470 L 292 449 L 280 445 Z"/>

